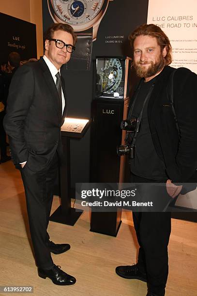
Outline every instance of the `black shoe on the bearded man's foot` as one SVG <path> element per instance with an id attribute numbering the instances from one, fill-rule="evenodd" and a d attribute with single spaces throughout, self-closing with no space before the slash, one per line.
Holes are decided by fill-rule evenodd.
<path id="1" fill-rule="evenodd" d="M 137 264 L 132 266 L 118 266 L 116 267 L 116 273 L 124 279 L 136 279 L 147 282 L 146 272 L 140 271 Z"/>

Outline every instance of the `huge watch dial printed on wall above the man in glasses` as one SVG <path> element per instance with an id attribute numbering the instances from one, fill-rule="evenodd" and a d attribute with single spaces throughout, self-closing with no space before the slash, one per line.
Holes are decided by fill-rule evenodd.
<path id="1" fill-rule="evenodd" d="M 88 25 L 85 25 L 91 22 L 101 12 L 105 1 L 48 0 L 48 6 L 50 14 L 55 21 L 64 22 L 74 27 L 81 26 L 81 30 L 85 30 L 88 28 Z"/>

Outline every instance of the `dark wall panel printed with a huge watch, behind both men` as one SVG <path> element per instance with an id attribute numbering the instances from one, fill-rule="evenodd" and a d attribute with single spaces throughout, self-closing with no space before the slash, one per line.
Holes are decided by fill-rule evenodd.
<path id="1" fill-rule="evenodd" d="M 52 9 L 54 7 L 56 13 Z M 43 31 L 54 21 L 68 20 L 70 24 L 72 22 L 72 25 L 78 26 L 77 35 L 85 34 L 86 41 L 91 43 L 87 52 L 87 46 L 84 49 L 79 37 L 75 51 L 79 52 L 78 59 L 71 59 L 61 69 L 66 84 L 68 117 L 91 117 L 95 58 L 130 57 L 128 35 L 138 25 L 147 22 L 147 12 L 148 0 L 43 0 Z M 80 48 L 82 53 L 86 51 L 91 60 L 89 70 L 87 63 L 84 67 Z M 76 71 L 76 66 L 84 68 Z M 76 139 L 71 140 L 71 151 L 71 186 L 75 188 L 76 182 L 90 180 L 90 130 L 80 140 L 80 145 Z"/>

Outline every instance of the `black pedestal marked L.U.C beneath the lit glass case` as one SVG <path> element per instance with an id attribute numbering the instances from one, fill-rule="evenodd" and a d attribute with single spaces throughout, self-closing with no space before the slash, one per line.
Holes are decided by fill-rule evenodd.
<path id="1" fill-rule="evenodd" d="M 119 183 L 124 180 L 124 157 L 116 148 L 124 135 L 120 128 L 126 117 L 128 98 L 124 100 L 96 99 L 92 102 L 91 182 Z M 121 225 L 121 208 L 115 212 L 91 211 L 90 231 L 116 237 Z"/>

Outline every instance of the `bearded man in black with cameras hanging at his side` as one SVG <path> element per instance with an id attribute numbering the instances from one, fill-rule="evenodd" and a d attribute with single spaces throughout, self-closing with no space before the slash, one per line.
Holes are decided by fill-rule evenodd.
<path id="1" fill-rule="evenodd" d="M 166 183 L 167 187 L 172 183 L 197 182 L 197 75 L 186 68 L 176 70 L 171 105 L 168 85 L 175 69 L 168 66 L 172 61 L 168 37 L 161 28 L 145 24 L 134 30 L 129 40 L 133 66 L 141 80 L 131 100 L 128 119 L 142 115 L 135 143 L 132 133 L 128 137 L 135 148 L 129 160 L 131 182 Z M 172 197 L 182 186 L 176 189 Z M 125 279 L 147 282 L 147 296 L 164 296 L 170 212 L 133 212 L 133 221 L 139 243 L 138 262 L 118 266 L 116 273 Z"/>

